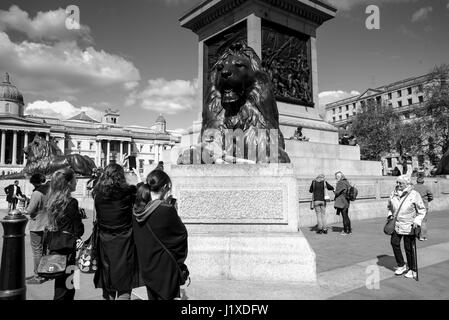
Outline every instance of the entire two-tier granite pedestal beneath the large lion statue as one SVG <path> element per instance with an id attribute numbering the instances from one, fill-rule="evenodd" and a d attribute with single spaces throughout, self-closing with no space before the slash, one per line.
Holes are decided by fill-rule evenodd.
<path id="1" fill-rule="evenodd" d="M 195 277 L 316 280 L 292 164 L 172 165 L 170 175 Z"/>

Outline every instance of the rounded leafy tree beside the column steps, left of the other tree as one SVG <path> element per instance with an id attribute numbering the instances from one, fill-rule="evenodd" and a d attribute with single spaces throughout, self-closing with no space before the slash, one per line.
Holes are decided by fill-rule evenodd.
<path id="1" fill-rule="evenodd" d="M 351 125 L 362 159 L 380 160 L 383 154 L 391 152 L 396 147 L 393 137 L 399 125 L 399 116 L 392 107 L 369 101 Z"/>

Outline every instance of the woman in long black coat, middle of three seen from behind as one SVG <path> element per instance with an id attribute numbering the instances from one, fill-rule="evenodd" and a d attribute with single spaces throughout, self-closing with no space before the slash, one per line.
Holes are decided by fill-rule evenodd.
<path id="1" fill-rule="evenodd" d="M 106 300 L 129 300 L 139 287 L 139 269 L 132 229 L 136 187 L 126 183 L 123 168 L 109 164 L 93 190 L 98 224 L 98 269 L 94 284 Z"/>

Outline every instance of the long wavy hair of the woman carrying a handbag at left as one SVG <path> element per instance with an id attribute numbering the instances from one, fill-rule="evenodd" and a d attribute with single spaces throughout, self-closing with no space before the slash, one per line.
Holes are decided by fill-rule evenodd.
<path id="1" fill-rule="evenodd" d="M 51 227 L 56 227 L 58 219 L 72 199 L 70 184 L 73 179 L 75 179 L 75 172 L 69 168 L 59 169 L 51 177 L 46 205 Z"/>

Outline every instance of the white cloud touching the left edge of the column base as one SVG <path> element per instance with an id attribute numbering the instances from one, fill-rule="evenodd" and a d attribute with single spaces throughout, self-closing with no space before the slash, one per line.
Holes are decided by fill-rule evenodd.
<path id="1" fill-rule="evenodd" d="M 133 91 L 126 105 L 137 105 L 164 114 L 176 114 L 198 106 L 198 81 L 150 79 L 141 91 Z"/>

